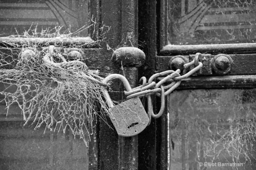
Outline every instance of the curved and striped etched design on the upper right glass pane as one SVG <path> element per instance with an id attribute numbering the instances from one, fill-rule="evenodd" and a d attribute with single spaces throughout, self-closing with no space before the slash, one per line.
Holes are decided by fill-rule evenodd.
<path id="1" fill-rule="evenodd" d="M 178 19 L 180 33 L 194 33 L 195 30 L 256 28 L 256 18 L 252 15 L 252 13 L 256 13 L 256 7 L 212 8 L 211 4 L 206 4 L 204 0 L 197 4 L 195 0 L 188 0 L 187 4 L 185 2 L 185 0 L 181 1 L 182 17 Z M 224 11 L 231 14 L 225 14 Z M 242 13 L 232 13 L 232 11 L 241 11 Z M 243 11 L 249 12 L 243 13 Z M 223 13 L 220 14 L 220 12 Z M 226 25 L 225 23 L 232 24 Z M 214 26 L 214 24 L 221 25 Z"/>

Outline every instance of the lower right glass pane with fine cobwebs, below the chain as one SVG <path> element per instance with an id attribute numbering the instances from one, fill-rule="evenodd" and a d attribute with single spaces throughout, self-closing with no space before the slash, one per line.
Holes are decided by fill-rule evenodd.
<path id="1" fill-rule="evenodd" d="M 170 169 L 256 169 L 255 103 L 255 89 L 170 94 Z"/>

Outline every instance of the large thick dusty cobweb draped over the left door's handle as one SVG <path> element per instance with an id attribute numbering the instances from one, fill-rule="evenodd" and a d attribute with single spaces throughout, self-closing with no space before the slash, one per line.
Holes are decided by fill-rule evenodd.
<path id="1" fill-rule="evenodd" d="M 93 26 L 95 23 L 89 27 Z M 96 115 L 105 120 L 108 112 L 101 85 L 94 81 L 102 80 L 99 74 L 103 77 L 107 74 L 93 76 L 82 50 L 100 46 L 108 27 L 100 29 L 101 37 L 95 31 L 96 41 L 71 41 L 89 27 L 74 33 L 68 29 L 62 31 L 61 26 L 38 33 L 35 27 L 22 35 L 10 36 L 14 41 L 2 42 L 0 82 L 5 89 L 0 93 L 4 96 L 7 116 L 8 109 L 18 103 L 25 124 L 32 121 L 35 129 L 46 124 L 45 129 L 52 131 L 65 132 L 69 128 L 87 144 L 92 120 Z M 70 41 L 68 46 L 62 43 L 63 39 Z"/>

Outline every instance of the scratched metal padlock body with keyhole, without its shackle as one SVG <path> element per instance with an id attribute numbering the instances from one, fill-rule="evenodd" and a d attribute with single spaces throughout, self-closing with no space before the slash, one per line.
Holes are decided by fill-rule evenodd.
<path id="1" fill-rule="evenodd" d="M 131 137 L 142 132 L 149 118 L 139 97 L 126 100 L 109 109 L 109 117 L 119 136 Z"/>

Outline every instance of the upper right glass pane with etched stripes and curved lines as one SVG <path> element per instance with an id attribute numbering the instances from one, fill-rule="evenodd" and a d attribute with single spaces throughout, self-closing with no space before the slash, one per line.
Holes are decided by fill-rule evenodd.
<path id="1" fill-rule="evenodd" d="M 169 0 L 171 44 L 255 42 L 255 0 Z"/>

